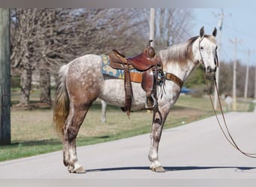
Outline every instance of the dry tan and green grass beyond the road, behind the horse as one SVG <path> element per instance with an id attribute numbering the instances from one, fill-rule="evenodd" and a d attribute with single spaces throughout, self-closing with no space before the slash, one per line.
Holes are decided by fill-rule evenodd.
<path id="1" fill-rule="evenodd" d="M 237 108 L 241 108 L 241 111 L 249 111 L 253 108 L 252 102 L 239 100 Z M 129 120 L 120 108 L 108 105 L 106 123 L 101 123 L 100 115 L 101 105 L 100 102 L 96 102 L 88 111 L 86 120 L 79 130 L 76 139 L 77 146 L 97 144 L 150 132 L 152 114 L 149 111 L 132 112 Z M 165 121 L 165 129 L 211 115 L 213 115 L 213 110 L 208 97 L 180 96 Z M 61 140 L 52 127 L 52 111 L 49 108 L 31 111 L 12 108 L 11 143 L 0 147 L 0 162 L 61 150 Z"/>

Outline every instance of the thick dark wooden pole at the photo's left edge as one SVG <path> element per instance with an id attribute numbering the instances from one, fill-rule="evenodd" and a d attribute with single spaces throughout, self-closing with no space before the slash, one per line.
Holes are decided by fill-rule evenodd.
<path id="1" fill-rule="evenodd" d="M 0 8 L 0 145 L 10 144 L 10 9 Z"/>

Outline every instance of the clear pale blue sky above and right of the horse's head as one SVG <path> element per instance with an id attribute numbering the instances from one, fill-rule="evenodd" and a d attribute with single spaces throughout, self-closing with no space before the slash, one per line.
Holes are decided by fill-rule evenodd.
<path id="1" fill-rule="evenodd" d="M 243 64 L 256 66 L 256 8 L 195 8 L 192 9 L 192 36 L 199 35 L 204 26 L 205 34 L 211 34 L 213 28 L 219 31 L 219 20 L 223 10 L 222 34 L 220 42 L 219 61 L 234 61 L 234 43 L 237 37 L 237 60 Z M 250 55 L 248 51 L 250 50 Z"/>

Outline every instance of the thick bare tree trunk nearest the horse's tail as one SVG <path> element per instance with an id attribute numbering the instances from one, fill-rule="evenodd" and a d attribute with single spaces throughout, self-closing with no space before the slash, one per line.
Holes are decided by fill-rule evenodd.
<path id="1" fill-rule="evenodd" d="M 47 70 L 40 70 L 40 90 L 40 102 L 51 105 L 51 76 Z"/>

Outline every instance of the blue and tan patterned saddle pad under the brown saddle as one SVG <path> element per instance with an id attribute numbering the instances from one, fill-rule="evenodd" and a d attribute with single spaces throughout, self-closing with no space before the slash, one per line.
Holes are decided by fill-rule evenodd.
<path id="1" fill-rule="evenodd" d="M 112 76 L 113 78 L 124 79 L 124 70 L 116 70 L 109 65 L 109 55 L 101 55 L 102 67 L 101 73 L 103 75 Z M 132 82 L 141 82 L 142 73 L 138 70 L 132 69 L 129 71 Z"/>

